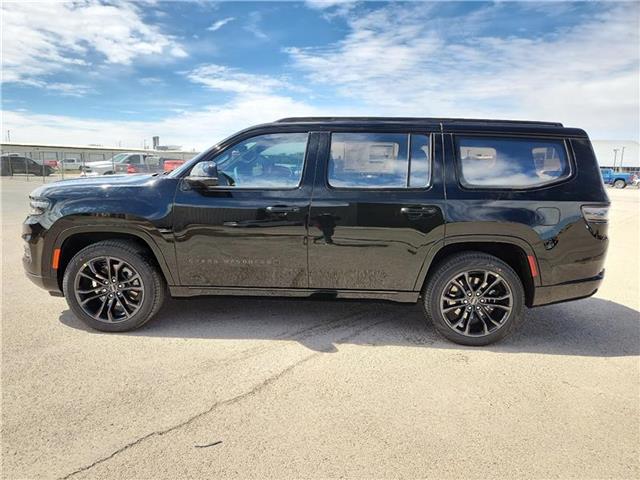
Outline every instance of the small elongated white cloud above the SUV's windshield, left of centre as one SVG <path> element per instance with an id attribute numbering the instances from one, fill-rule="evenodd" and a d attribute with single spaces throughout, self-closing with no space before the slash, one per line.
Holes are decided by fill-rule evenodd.
<path id="1" fill-rule="evenodd" d="M 243 73 L 223 65 L 207 64 L 186 72 L 187 78 L 214 90 L 234 93 L 271 92 L 293 88 L 285 80 L 268 75 Z"/>

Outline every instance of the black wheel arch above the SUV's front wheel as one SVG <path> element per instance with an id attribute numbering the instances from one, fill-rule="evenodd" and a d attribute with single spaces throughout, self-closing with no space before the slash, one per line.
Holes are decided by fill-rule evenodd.
<path id="1" fill-rule="evenodd" d="M 160 269 L 165 281 L 169 285 L 175 284 L 171 269 L 153 238 L 144 231 L 138 231 L 130 227 L 76 227 L 63 231 L 55 242 L 55 248 L 60 249 L 58 268 L 54 270 L 58 286 L 62 288 L 62 278 L 67 265 L 83 248 L 103 240 L 128 240 L 136 243 L 149 253 L 149 257 Z"/>

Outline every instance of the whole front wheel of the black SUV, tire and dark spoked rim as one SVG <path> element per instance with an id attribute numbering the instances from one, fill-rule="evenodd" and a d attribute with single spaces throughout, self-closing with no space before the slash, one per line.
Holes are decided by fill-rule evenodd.
<path id="1" fill-rule="evenodd" d="M 149 254 L 123 240 L 106 240 L 80 250 L 64 272 L 62 289 L 71 311 L 87 326 L 103 332 L 141 327 L 160 310 L 166 296 L 164 278 Z"/>

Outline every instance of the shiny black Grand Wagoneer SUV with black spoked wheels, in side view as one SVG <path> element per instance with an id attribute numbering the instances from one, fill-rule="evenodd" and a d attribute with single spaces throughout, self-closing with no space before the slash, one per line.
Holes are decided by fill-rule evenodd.
<path id="1" fill-rule="evenodd" d="M 596 292 L 608 207 L 587 134 L 560 123 L 287 118 L 168 174 L 37 188 L 24 266 L 99 330 L 167 293 L 319 295 L 419 301 L 484 345 Z"/>

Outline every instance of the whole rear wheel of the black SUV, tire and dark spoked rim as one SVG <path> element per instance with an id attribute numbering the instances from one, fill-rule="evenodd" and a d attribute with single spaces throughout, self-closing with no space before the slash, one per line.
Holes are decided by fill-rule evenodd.
<path id="1" fill-rule="evenodd" d="M 436 267 L 425 284 L 422 305 L 427 319 L 446 339 L 460 345 L 489 345 L 524 321 L 524 288 L 518 274 L 499 258 L 465 252 Z"/>

